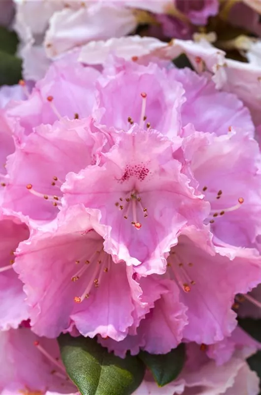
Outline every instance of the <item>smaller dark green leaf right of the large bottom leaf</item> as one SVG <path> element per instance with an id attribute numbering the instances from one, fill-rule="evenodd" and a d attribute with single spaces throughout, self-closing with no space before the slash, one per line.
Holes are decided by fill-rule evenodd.
<path id="1" fill-rule="evenodd" d="M 185 362 L 185 345 L 180 344 L 168 354 L 153 355 L 141 351 L 138 357 L 150 369 L 159 387 L 163 387 L 175 380 L 181 372 Z"/>

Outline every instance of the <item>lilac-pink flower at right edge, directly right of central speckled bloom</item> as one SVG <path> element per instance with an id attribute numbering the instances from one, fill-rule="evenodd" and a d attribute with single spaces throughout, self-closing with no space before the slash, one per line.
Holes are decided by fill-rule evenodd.
<path id="1" fill-rule="evenodd" d="M 214 243 L 254 247 L 261 232 L 261 157 L 257 142 L 232 130 L 218 137 L 194 133 L 189 128 L 186 132 L 185 157 L 199 189 L 211 204 L 208 222 Z"/>

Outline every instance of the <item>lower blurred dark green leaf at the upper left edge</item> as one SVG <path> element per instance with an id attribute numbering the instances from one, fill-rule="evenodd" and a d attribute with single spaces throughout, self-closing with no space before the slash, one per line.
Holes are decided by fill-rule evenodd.
<path id="1" fill-rule="evenodd" d="M 0 85 L 13 85 L 22 78 L 22 60 L 0 51 Z"/>

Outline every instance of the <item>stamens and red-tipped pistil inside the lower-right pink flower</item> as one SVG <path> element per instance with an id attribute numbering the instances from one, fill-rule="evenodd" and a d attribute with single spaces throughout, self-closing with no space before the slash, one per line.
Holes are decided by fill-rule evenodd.
<path id="1" fill-rule="evenodd" d="M 192 266 L 193 263 L 191 262 L 182 262 L 176 251 L 173 251 L 173 249 L 170 251 L 167 258 L 168 274 L 184 292 L 190 292 L 191 286 L 196 284 L 188 273 L 189 268 Z"/>

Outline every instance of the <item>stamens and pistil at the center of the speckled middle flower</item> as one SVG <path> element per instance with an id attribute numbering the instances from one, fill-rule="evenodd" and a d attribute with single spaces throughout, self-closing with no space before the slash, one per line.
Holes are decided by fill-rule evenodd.
<path id="1" fill-rule="evenodd" d="M 123 212 L 123 216 L 125 219 L 131 216 L 131 225 L 134 226 L 135 229 L 139 230 L 142 226 L 141 222 L 138 220 L 138 212 L 142 213 L 142 216 L 146 218 L 148 216 L 148 211 L 146 207 L 143 207 L 141 203 L 141 197 L 135 192 L 131 192 L 130 195 L 126 195 L 126 197 L 120 197 L 120 201 L 116 201 L 115 206 L 119 208 L 120 211 Z"/>

